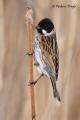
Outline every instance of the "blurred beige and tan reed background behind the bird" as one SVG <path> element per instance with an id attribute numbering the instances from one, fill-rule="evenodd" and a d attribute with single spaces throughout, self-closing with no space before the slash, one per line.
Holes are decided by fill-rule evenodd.
<path id="1" fill-rule="evenodd" d="M 44 77 L 35 86 L 37 120 L 80 120 L 80 1 L 28 0 L 35 10 L 35 25 L 50 17 L 55 25 L 60 51 L 57 87 L 53 98 L 50 81 Z M 76 8 L 52 8 L 52 4 Z M 0 120 L 31 120 L 25 0 L 0 0 Z M 34 79 L 38 77 L 34 67 Z"/>

